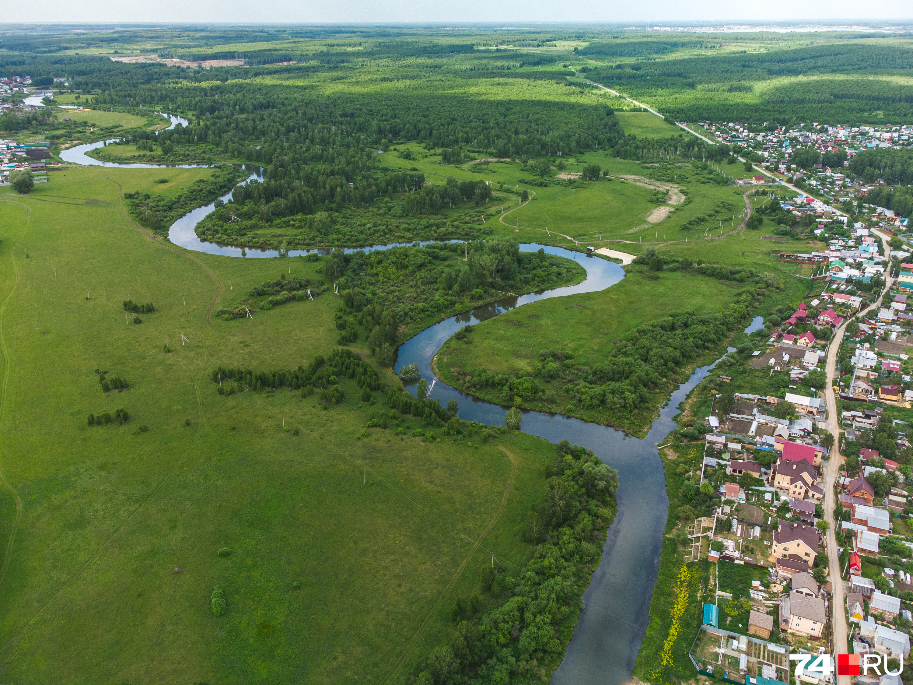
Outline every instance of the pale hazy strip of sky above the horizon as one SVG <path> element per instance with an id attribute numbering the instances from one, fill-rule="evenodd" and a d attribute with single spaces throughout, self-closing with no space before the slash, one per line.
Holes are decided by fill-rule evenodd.
<path id="1" fill-rule="evenodd" d="M 43 0 L 5 3 L 3 22 L 655 22 L 913 20 L 913 0 Z"/>

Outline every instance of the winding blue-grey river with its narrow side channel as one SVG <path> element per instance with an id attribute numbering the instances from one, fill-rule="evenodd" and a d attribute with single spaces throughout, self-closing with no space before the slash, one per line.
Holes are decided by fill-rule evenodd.
<path id="1" fill-rule="evenodd" d="M 180 120 L 172 117 L 172 126 Z M 126 168 L 158 168 L 163 164 L 118 164 L 102 163 L 86 155 L 103 142 L 79 145 L 60 154 L 68 163 L 82 163 L 99 166 Z M 188 164 L 185 166 L 194 166 Z M 248 181 L 260 177 L 255 168 Z M 230 193 L 223 195 L 227 200 Z M 231 248 L 200 240 L 194 227 L 215 208 L 206 205 L 182 216 L 169 229 L 169 239 L 183 248 L 208 254 L 241 257 L 241 248 Z M 384 249 L 392 246 L 374 246 L 367 249 Z M 566 288 L 530 293 L 521 297 L 506 298 L 465 312 L 425 329 L 411 340 L 404 342 L 398 350 L 398 364 L 418 364 L 422 375 L 432 380 L 431 363 L 441 345 L 467 323 L 492 319 L 499 314 L 536 300 L 565 297 L 578 292 L 593 292 L 611 288 L 624 278 L 624 270 L 613 262 L 593 258 L 563 248 L 522 245 L 521 250 L 535 251 L 544 248 L 551 255 L 574 258 L 586 269 L 587 278 L 581 283 Z M 305 253 L 308 250 L 292 250 L 289 254 Z M 352 250 L 347 250 L 352 251 Z M 275 250 L 247 250 L 247 257 L 276 257 Z M 756 330 L 761 317 L 752 321 L 747 332 Z M 731 348 L 730 348 L 731 350 Z M 719 361 L 719 360 L 718 360 Z M 634 670 L 637 652 L 643 642 L 649 622 L 649 606 L 656 585 L 659 568 L 659 552 L 662 546 L 663 530 L 666 526 L 666 479 L 662 460 L 656 445 L 676 427 L 672 417 L 678 413 L 677 406 L 687 394 L 710 372 L 717 363 L 698 368 L 683 385 L 672 394 L 653 422 L 644 439 L 625 435 L 611 427 L 582 421 L 562 415 L 547 415 L 540 412 L 524 412 L 522 429 L 530 434 L 544 437 L 551 442 L 568 438 L 593 451 L 603 461 L 618 470 L 618 515 L 609 528 L 599 567 L 593 574 L 593 581 L 583 595 L 584 609 L 571 644 L 568 646 L 561 666 L 555 671 L 551 682 L 556 685 L 620 685 L 630 680 Z M 459 416 L 487 424 L 502 424 L 507 409 L 464 394 L 435 380 L 429 394 L 446 405 L 450 399 L 459 402 Z"/>

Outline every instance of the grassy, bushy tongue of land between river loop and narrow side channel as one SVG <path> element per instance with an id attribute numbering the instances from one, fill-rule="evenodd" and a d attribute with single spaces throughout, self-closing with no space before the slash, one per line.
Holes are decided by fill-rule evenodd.
<path id="1" fill-rule="evenodd" d="M 699 274 L 636 276 L 605 292 L 538 302 L 474 326 L 444 342 L 435 374 L 489 402 L 644 437 L 670 393 L 719 357 L 732 326 L 767 291 Z M 678 310 L 683 298 L 693 303 L 688 314 Z M 645 339 L 656 344 L 644 346 Z"/>

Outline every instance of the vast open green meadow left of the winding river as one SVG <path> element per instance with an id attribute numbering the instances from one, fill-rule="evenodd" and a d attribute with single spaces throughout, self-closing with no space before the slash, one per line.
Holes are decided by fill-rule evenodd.
<path id="1" fill-rule="evenodd" d="M 215 365 L 289 368 L 328 353 L 337 302 L 207 326 L 219 283 L 317 265 L 197 261 L 122 216 L 118 182 L 152 189 L 160 175 L 195 173 L 87 168 L 24 197 L 0 190 L 3 549 L 16 534 L 0 585 L 0 674 L 376 681 L 405 653 L 400 680 L 452 629 L 454 597 L 477 589 L 488 552 L 473 542 L 489 523 L 484 546 L 519 569 L 519 531 L 553 447 L 526 436 L 425 443 L 392 428 L 357 439 L 382 405 L 362 406 L 348 382 L 331 413 L 288 391 L 217 395 Z M 130 324 L 126 299 L 156 311 Z M 95 369 L 130 389 L 102 393 Z M 86 425 L 120 407 L 125 425 Z M 373 484 L 362 485 L 365 468 Z M 215 584 L 225 617 L 209 609 Z"/>

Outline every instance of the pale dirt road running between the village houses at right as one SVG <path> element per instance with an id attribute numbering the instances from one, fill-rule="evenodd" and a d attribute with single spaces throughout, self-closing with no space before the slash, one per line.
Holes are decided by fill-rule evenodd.
<path id="1" fill-rule="evenodd" d="M 881 238 L 886 253 L 889 252 L 890 248 L 887 245 L 888 237 L 879 231 L 876 231 L 875 233 Z M 867 311 L 877 309 L 881 305 L 881 300 L 885 297 L 885 293 L 893 282 L 894 279 L 891 278 L 890 272 L 888 271 L 885 278 L 885 288 L 881 291 L 881 295 L 875 302 L 867 307 L 866 310 L 861 311 L 860 315 Z M 831 448 L 831 457 L 826 462 L 824 468 L 824 521 L 829 524 L 826 535 L 827 556 L 831 562 L 831 585 L 834 587 L 834 590 L 831 593 L 831 611 L 833 615 L 831 628 L 834 641 L 834 654 L 843 653 L 844 650 L 847 649 L 846 640 L 848 637 L 846 615 L 844 612 L 846 598 L 844 595 L 844 584 L 841 574 L 842 569 L 840 568 L 840 555 L 837 553 L 836 522 L 834 521 L 834 507 L 836 506 L 834 485 L 840 473 L 840 464 L 843 461 L 843 458 L 840 456 L 840 418 L 837 416 L 837 400 L 834 396 L 834 376 L 837 373 L 837 352 L 840 349 L 840 341 L 843 340 L 847 323 L 849 323 L 849 319 L 834 332 L 834 336 L 831 338 L 831 345 L 827 350 L 825 362 L 825 370 L 827 373 L 827 385 L 825 385 L 824 389 L 824 401 L 827 406 L 826 425 L 827 430 L 834 436 L 834 447 Z M 852 680 L 850 676 L 836 676 L 836 679 L 836 685 L 850 685 Z"/>

